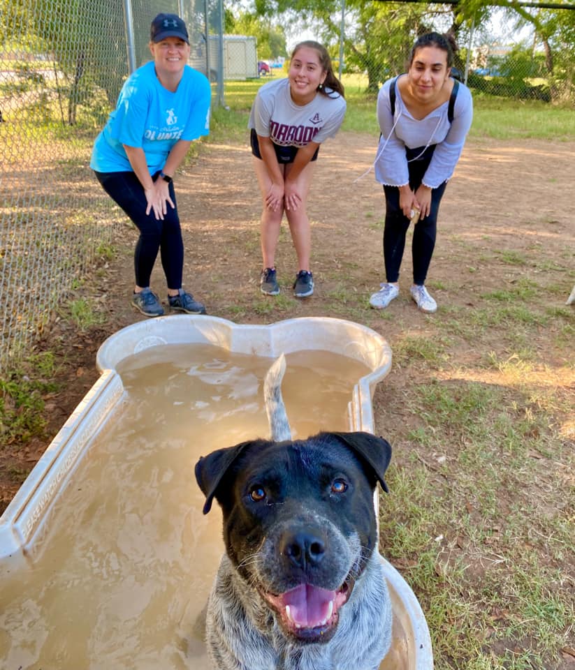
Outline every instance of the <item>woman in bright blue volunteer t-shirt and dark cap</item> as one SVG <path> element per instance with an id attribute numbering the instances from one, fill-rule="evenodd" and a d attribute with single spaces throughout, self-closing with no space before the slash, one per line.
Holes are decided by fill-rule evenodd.
<path id="1" fill-rule="evenodd" d="M 146 316 L 163 314 L 150 289 L 159 251 L 170 309 L 205 314 L 203 304 L 182 289 L 184 244 L 173 176 L 192 140 L 210 132 L 210 82 L 187 65 L 189 37 L 180 17 L 157 15 L 150 36 L 153 60 L 124 83 L 96 137 L 90 167 L 140 231 L 131 304 Z"/>

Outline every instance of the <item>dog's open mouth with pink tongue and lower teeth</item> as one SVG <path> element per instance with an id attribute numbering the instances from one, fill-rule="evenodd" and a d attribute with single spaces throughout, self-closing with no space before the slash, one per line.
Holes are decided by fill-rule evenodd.
<path id="1" fill-rule="evenodd" d="M 339 618 L 338 610 L 347 602 L 353 581 L 346 580 L 337 590 L 300 584 L 280 595 L 263 593 L 279 614 L 286 632 L 302 641 L 328 641 Z"/>

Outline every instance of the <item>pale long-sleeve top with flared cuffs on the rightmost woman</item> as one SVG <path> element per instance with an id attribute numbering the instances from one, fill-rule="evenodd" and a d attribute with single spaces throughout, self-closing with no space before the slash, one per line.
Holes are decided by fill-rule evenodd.
<path id="1" fill-rule="evenodd" d="M 385 82 L 377 96 L 377 120 L 381 129 L 375 178 L 386 186 L 409 184 L 405 149 L 418 149 L 435 144 L 430 165 L 423 175 L 423 184 L 437 188 L 450 179 L 455 170 L 465 138 L 473 119 L 473 100 L 470 89 L 459 84 L 453 108 L 453 122 L 447 117 L 449 101 L 439 105 L 424 119 L 414 119 L 395 87 L 395 114 L 391 114 L 389 89 L 395 77 Z"/>

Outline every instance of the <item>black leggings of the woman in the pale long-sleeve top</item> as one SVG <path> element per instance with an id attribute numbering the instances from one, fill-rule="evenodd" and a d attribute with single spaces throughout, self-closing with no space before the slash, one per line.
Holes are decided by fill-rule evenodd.
<path id="1" fill-rule="evenodd" d="M 435 145 L 423 152 L 416 161 L 408 163 L 409 188 L 416 191 L 421 186 L 421 180 L 428 169 Z M 408 160 L 412 156 L 421 154 L 423 148 L 407 149 Z M 423 221 L 418 221 L 414 228 L 412 242 L 412 261 L 414 269 L 414 284 L 423 285 L 425 277 L 435 248 L 435 237 L 437 234 L 437 214 L 439 203 L 445 191 L 447 182 L 439 184 L 431 191 L 431 211 Z M 397 186 L 384 186 L 386 197 L 386 220 L 384 227 L 384 261 L 386 266 L 386 279 L 388 282 L 399 280 L 401 261 L 405 249 L 405 236 L 409 228 L 409 218 L 400 209 L 400 192 Z"/>

